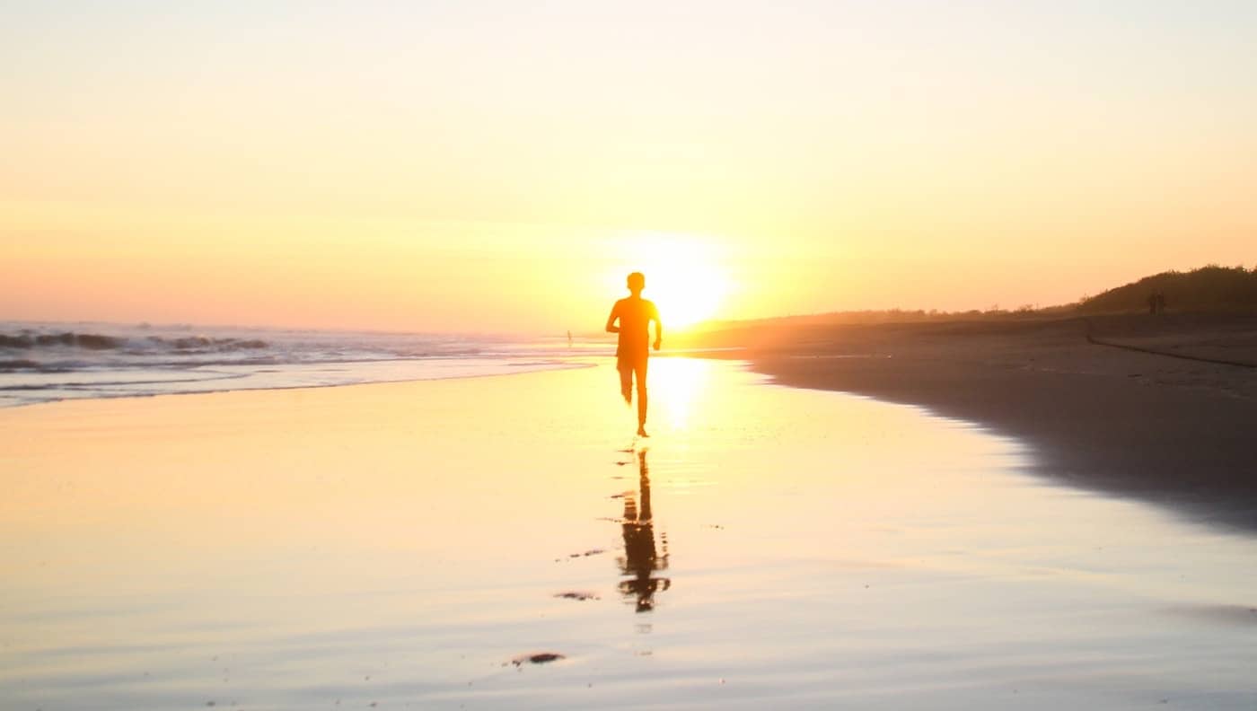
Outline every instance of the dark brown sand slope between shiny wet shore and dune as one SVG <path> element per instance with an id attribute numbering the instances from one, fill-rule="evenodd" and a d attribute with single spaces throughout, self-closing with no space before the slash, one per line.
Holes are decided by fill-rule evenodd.
<path id="1" fill-rule="evenodd" d="M 1257 530 L 1257 318 L 759 328 L 719 343 L 749 345 L 735 354 L 783 384 L 1017 437 L 1052 480 Z"/>

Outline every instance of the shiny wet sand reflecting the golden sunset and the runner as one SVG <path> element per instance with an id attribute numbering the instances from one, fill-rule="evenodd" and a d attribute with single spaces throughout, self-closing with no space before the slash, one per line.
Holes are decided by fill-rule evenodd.
<path id="1" fill-rule="evenodd" d="M 1252 707 L 1251 531 L 836 356 L 0 411 L 0 705 Z"/>

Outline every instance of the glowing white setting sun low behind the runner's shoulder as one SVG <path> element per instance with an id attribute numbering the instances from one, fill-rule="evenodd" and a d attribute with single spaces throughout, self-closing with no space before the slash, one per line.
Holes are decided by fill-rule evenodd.
<path id="1" fill-rule="evenodd" d="M 655 301 L 665 332 L 718 315 L 730 284 L 710 242 L 661 232 L 634 232 L 625 237 L 637 259 L 623 260 L 615 279 L 622 288 L 630 271 L 646 275 L 642 298 Z"/>

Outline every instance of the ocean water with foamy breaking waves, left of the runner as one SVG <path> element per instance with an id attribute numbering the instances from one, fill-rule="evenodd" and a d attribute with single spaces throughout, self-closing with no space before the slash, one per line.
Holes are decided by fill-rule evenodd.
<path id="1" fill-rule="evenodd" d="M 0 322 L 0 407 L 493 376 L 612 352 L 566 335 Z"/>

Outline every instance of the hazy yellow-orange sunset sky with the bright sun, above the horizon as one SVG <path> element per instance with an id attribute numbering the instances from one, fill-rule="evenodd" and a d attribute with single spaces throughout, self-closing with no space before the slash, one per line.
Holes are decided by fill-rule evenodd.
<path id="1" fill-rule="evenodd" d="M 0 0 L 0 319 L 576 333 L 1257 265 L 1257 3 Z"/>

